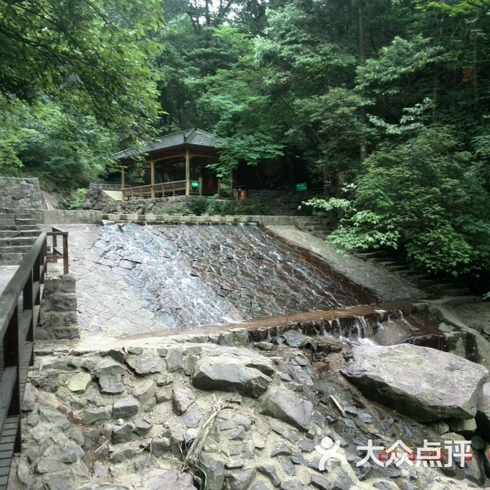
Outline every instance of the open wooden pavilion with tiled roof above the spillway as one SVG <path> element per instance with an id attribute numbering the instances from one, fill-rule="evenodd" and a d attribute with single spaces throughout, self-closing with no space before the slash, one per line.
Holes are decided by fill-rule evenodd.
<path id="1" fill-rule="evenodd" d="M 127 186 L 125 170 L 134 167 L 137 155 L 145 158 L 145 183 Z M 216 139 L 197 127 L 166 134 L 141 151 L 128 148 L 114 156 L 121 164 L 123 200 L 218 193 L 218 179 L 207 167 L 219 159 Z"/>

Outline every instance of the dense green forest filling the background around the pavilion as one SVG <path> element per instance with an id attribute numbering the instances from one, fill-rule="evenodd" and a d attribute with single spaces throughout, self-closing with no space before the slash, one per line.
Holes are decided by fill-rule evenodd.
<path id="1" fill-rule="evenodd" d="M 0 3 L 0 172 L 58 189 L 201 127 L 239 162 L 344 186 L 339 248 L 490 270 L 489 0 Z"/>

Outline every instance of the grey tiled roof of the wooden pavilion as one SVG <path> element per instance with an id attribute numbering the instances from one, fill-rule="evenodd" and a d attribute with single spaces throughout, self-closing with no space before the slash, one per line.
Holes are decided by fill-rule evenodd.
<path id="1" fill-rule="evenodd" d="M 153 151 L 165 150 L 167 148 L 174 148 L 176 146 L 183 145 L 208 146 L 209 148 L 217 148 L 217 141 L 211 133 L 200 130 L 197 127 L 193 127 L 191 130 L 165 134 L 144 146 L 144 148 L 141 148 L 139 151 L 134 150 L 134 148 L 127 148 L 126 150 L 115 153 L 114 157 L 120 160 L 133 155 L 143 155 L 144 153 L 151 153 Z"/>

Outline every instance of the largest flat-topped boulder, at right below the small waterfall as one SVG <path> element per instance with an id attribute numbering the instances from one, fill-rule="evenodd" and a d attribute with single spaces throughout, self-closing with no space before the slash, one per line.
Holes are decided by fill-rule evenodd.
<path id="1" fill-rule="evenodd" d="M 355 346 L 344 376 L 368 397 L 421 422 L 471 419 L 486 367 L 429 347 Z"/>

